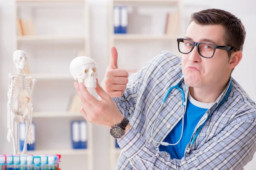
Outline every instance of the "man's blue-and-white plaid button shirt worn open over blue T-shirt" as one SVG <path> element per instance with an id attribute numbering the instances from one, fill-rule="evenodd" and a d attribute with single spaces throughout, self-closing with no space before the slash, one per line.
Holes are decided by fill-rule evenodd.
<path id="1" fill-rule="evenodd" d="M 181 160 L 171 159 L 169 153 L 159 151 L 159 144 L 151 138 L 151 130 L 170 86 L 181 81 L 180 87 L 187 100 L 189 87 L 181 74 L 181 58 L 162 51 L 141 71 L 129 77 L 122 97 L 113 98 L 132 126 L 118 140 L 122 152 L 117 170 L 240 170 L 253 159 L 256 151 L 256 105 L 233 78 L 227 100 L 212 113 L 227 93 L 230 80 L 198 122 L 192 138 L 211 114 L 191 148 L 186 147 Z M 154 127 L 153 136 L 157 142 L 162 142 L 182 119 L 180 91 L 174 89 L 169 95 Z"/>

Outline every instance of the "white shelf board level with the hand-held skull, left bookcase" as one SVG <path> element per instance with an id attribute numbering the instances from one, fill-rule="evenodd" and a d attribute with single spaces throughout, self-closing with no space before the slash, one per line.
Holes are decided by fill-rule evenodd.
<path id="1" fill-rule="evenodd" d="M 74 80 L 70 74 L 32 74 L 32 76 L 38 80 Z"/>

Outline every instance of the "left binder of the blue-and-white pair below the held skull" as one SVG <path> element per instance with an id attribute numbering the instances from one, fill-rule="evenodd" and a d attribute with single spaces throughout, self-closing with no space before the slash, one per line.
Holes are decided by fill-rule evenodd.
<path id="1" fill-rule="evenodd" d="M 71 122 L 71 140 L 73 149 L 80 148 L 79 121 Z"/>

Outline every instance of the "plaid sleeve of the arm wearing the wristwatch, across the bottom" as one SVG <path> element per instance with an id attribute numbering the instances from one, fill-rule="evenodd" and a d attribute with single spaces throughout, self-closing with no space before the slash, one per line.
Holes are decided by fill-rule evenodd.
<path id="1" fill-rule="evenodd" d="M 133 127 L 118 140 L 118 144 L 136 170 L 240 170 L 253 158 L 256 150 L 256 120 L 233 121 L 181 160 L 171 159 L 169 153 L 160 152 Z"/>

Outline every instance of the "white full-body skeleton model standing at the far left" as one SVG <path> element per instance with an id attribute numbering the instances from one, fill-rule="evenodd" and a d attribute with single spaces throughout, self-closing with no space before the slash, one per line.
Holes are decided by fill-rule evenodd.
<path id="1" fill-rule="evenodd" d="M 17 73 L 9 74 L 9 91 L 7 102 L 7 140 L 13 144 L 13 154 L 17 154 L 17 145 L 15 138 L 15 123 L 26 123 L 26 136 L 22 155 L 26 154 L 27 144 L 32 144 L 33 135 L 31 131 L 32 126 L 32 95 L 34 92 L 36 79 L 29 74 L 21 74 L 21 71 L 26 68 L 27 57 L 25 51 L 17 50 L 13 54 L 13 61 L 15 62 Z"/>

